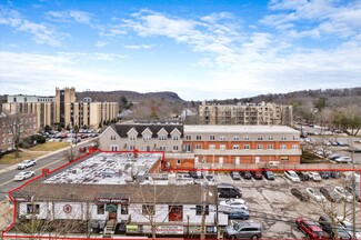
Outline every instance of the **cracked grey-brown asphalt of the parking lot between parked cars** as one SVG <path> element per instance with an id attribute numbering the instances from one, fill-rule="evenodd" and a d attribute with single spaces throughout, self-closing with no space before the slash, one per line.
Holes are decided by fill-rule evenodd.
<path id="1" fill-rule="evenodd" d="M 320 188 L 320 187 L 335 187 L 344 183 L 344 178 L 341 179 L 324 179 L 321 182 L 302 181 L 299 183 L 291 182 L 283 174 L 275 176 L 275 180 L 267 179 L 254 180 L 241 179 L 232 180 L 227 173 L 217 174 L 218 182 L 232 183 L 242 191 L 242 199 L 248 202 L 250 219 L 262 223 L 264 238 L 304 238 L 294 220 L 299 217 L 312 219 L 318 221 L 320 216 L 324 214 L 324 210 L 331 209 L 331 203 L 325 201 L 323 203 L 309 201 L 301 202 L 298 198 L 291 194 L 291 188 Z M 348 212 L 347 219 L 352 221 L 352 204 L 351 203 L 334 203 L 332 209 L 338 216 L 343 214 L 343 208 Z M 361 224 L 360 221 L 360 203 L 355 203 L 355 222 L 357 227 Z M 360 229 L 360 228 L 359 228 Z"/>

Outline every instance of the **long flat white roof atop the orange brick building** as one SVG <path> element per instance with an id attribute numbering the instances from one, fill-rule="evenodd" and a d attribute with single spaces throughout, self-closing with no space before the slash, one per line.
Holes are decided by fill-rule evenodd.
<path id="1" fill-rule="evenodd" d="M 184 133 L 293 133 L 300 134 L 300 131 L 287 126 L 184 126 Z"/>

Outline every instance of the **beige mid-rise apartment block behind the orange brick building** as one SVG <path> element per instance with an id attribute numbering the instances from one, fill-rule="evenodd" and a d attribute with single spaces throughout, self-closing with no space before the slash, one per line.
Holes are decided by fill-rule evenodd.
<path id="1" fill-rule="evenodd" d="M 199 106 L 201 124 L 284 124 L 292 126 L 292 106 L 271 102 Z"/>

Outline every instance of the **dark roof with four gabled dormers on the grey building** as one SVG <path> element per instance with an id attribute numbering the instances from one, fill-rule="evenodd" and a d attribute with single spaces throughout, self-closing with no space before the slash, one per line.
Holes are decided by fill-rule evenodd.
<path id="1" fill-rule="evenodd" d="M 148 123 L 148 124 L 111 124 L 111 128 L 113 128 L 117 133 L 121 137 L 121 138 L 128 138 L 128 132 L 130 129 L 136 129 L 136 131 L 138 132 L 138 138 L 142 137 L 142 132 L 149 128 L 149 130 L 153 133 L 152 138 L 158 138 L 158 132 L 163 128 L 167 132 L 168 132 L 168 137 L 171 137 L 170 133 L 177 129 L 180 133 L 181 133 L 181 138 L 183 138 L 183 124 L 152 124 L 152 123 Z"/>

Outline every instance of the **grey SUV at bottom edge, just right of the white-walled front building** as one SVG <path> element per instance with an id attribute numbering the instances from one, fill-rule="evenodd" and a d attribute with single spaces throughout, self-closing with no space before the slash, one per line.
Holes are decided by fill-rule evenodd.
<path id="1" fill-rule="evenodd" d="M 259 239 L 262 237 L 262 226 L 255 221 L 231 221 L 231 224 L 225 227 L 223 237 L 225 239 Z"/>

